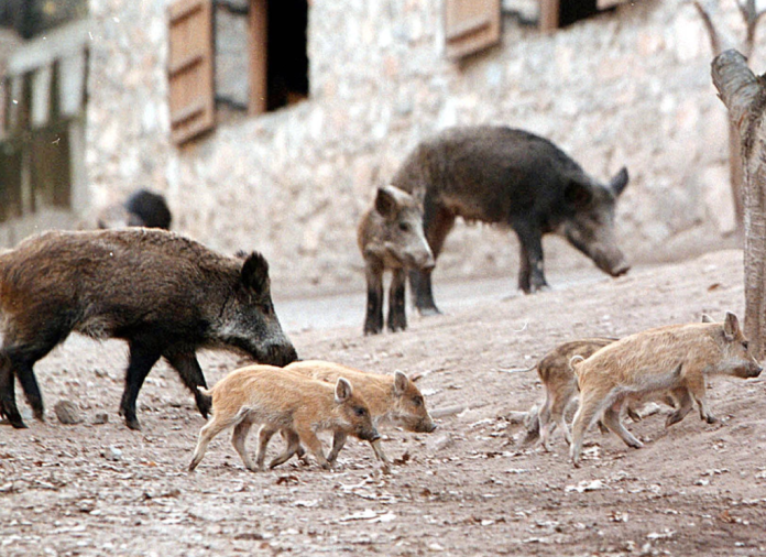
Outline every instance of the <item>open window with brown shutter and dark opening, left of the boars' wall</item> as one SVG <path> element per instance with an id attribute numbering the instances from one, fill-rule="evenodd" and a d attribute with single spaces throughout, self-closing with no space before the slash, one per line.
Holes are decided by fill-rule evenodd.
<path id="1" fill-rule="evenodd" d="M 308 97 L 307 0 L 177 0 L 168 21 L 175 143 Z"/>

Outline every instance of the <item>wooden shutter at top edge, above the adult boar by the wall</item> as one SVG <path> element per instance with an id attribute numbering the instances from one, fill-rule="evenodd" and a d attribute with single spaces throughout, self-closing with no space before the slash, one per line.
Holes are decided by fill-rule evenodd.
<path id="1" fill-rule="evenodd" d="M 457 59 L 500 42 L 500 0 L 445 0 L 445 48 Z"/>

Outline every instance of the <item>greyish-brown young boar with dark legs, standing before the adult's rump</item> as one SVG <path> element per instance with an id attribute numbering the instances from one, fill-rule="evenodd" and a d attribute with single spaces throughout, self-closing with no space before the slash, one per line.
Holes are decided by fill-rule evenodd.
<path id="1" fill-rule="evenodd" d="M 389 330 L 406 329 L 406 271 L 434 266 L 434 255 L 423 233 L 423 212 L 418 203 L 395 187 L 379 188 L 373 207 L 359 222 L 357 239 L 364 258 L 368 286 L 364 334 L 376 335 L 383 329 L 383 274 L 386 270 L 392 273 Z"/>

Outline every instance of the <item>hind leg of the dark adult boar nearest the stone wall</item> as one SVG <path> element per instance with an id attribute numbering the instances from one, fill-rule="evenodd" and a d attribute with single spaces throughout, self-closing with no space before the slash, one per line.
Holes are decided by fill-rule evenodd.
<path id="1" fill-rule="evenodd" d="M 455 214 L 446 207 L 437 205 L 433 196 L 426 193 L 426 198 L 423 203 L 423 231 L 426 233 L 426 240 L 434 254 L 434 261 L 441 253 L 447 234 L 449 234 L 453 226 Z M 434 292 L 431 290 L 433 271 L 433 267 L 409 271 L 409 285 L 413 288 L 415 307 L 417 307 L 422 316 L 441 313 L 434 302 Z"/>

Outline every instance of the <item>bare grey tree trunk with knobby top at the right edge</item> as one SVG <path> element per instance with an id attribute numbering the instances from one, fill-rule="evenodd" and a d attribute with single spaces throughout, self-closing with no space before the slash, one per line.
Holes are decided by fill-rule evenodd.
<path id="1" fill-rule="evenodd" d="M 713 85 L 738 131 L 744 171 L 745 335 L 764 357 L 766 341 L 766 81 L 753 75 L 747 59 L 726 51 L 713 59 Z"/>

